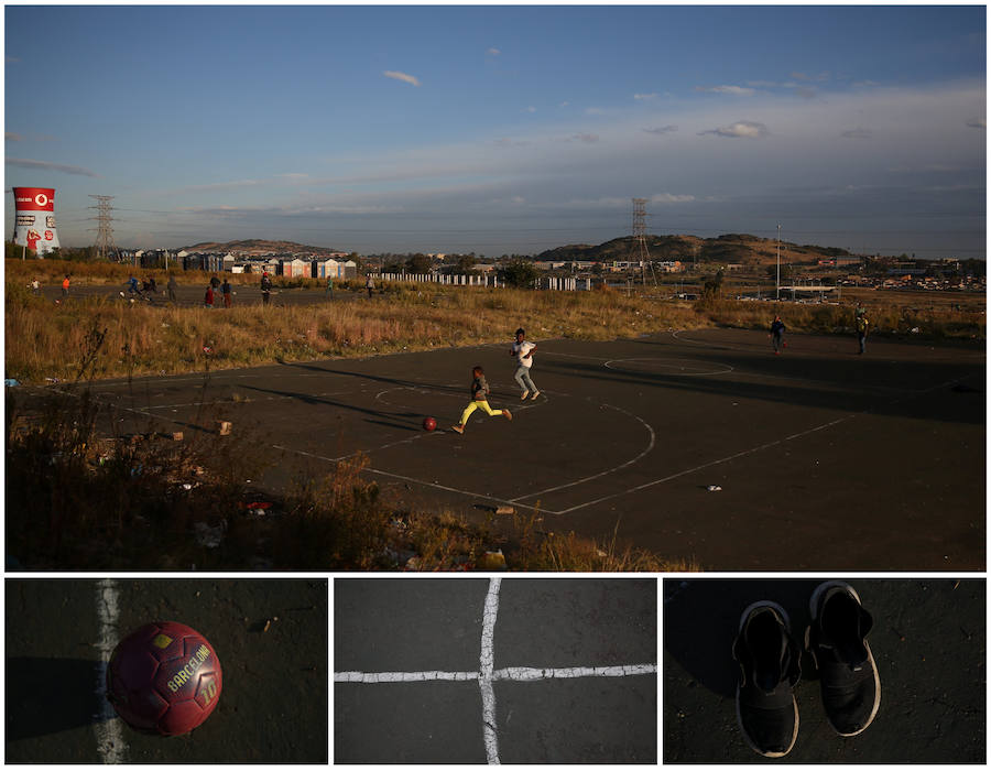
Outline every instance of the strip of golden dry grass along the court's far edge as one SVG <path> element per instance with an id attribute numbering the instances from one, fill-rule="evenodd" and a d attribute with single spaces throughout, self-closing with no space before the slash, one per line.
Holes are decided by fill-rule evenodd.
<path id="1" fill-rule="evenodd" d="M 80 379 L 83 370 L 87 378 L 109 378 L 470 346 L 510 339 L 520 325 L 535 339 L 586 340 L 707 326 L 765 329 L 775 313 L 792 332 L 829 334 L 853 326 L 852 305 L 689 304 L 610 290 L 531 292 L 412 283 L 389 283 L 371 301 L 362 296 L 360 302 L 312 305 L 208 311 L 76 297 L 53 306 L 11 275 L 10 262 L 7 377 L 23 382 Z M 984 337 L 983 312 L 951 305 L 873 302 L 868 314 L 874 334 L 918 329 L 930 337 Z M 104 335 L 104 345 L 85 361 L 83 351 L 94 335 Z"/>

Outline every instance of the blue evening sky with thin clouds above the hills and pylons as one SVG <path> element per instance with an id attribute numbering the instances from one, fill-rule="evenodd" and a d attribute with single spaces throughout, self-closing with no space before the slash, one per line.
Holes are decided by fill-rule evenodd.
<path id="1" fill-rule="evenodd" d="M 981 258 L 983 6 L 7 6 L 4 211 L 63 246 Z"/>

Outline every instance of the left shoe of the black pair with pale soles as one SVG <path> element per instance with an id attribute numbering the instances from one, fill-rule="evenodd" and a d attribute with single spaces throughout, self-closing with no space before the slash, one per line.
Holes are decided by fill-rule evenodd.
<path id="1" fill-rule="evenodd" d="M 786 756 L 798 737 L 798 704 L 792 688 L 802 674 L 801 655 L 784 608 L 763 600 L 743 611 L 733 642 L 733 659 L 740 665 L 737 720 L 747 743 L 765 758 Z"/>

